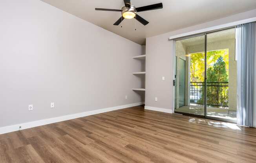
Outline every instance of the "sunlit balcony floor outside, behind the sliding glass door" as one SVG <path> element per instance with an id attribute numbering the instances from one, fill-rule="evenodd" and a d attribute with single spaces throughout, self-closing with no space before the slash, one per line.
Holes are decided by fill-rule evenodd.
<path id="1" fill-rule="evenodd" d="M 190 104 L 190 106 L 185 105 L 178 109 L 175 109 L 175 111 L 189 114 L 204 115 L 205 107 L 202 105 Z M 207 116 L 236 120 L 236 111 L 218 107 L 207 107 Z"/>

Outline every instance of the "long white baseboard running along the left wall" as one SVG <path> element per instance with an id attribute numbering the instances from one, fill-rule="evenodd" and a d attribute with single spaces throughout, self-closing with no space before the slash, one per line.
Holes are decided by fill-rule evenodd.
<path id="1" fill-rule="evenodd" d="M 60 122 L 60 121 L 72 120 L 75 118 L 90 116 L 90 115 L 99 114 L 99 113 L 103 113 L 103 112 L 109 112 L 109 111 L 113 111 L 113 110 L 119 110 L 119 109 L 124 109 L 124 108 L 128 108 L 128 107 L 135 107 L 135 106 L 143 105 L 143 104 L 144 104 L 144 102 L 138 102 L 138 103 L 132 103 L 132 104 L 128 104 L 128 105 L 109 107 L 109 108 L 104 108 L 104 109 L 92 110 L 92 111 L 88 111 L 88 112 L 81 112 L 81 113 L 77 113 L 77 114 L 70 114 L 70 115 L 66 115 L 66 116 L 60 116 L 60 117 L 55 117 L 55 118 L 49 118 L 49 119 L 44 119 L 44 120 L 31 121 L 31 122 L 27 122 L 27 123 L 21 123 L 21 124 L 16 124 L 16 125 L 11 125 L 11 126 L 0 127 L 0 134 L 5 134 L 8 132 L 13 132 L 13 131 L 18 131 L 18 130 L 29 129 L 32 127 L 38 127 L 38 126 L 56 123 L 56 122 Z M 20 129 L 20 126 L 21 126 L 21 129 Z"/>

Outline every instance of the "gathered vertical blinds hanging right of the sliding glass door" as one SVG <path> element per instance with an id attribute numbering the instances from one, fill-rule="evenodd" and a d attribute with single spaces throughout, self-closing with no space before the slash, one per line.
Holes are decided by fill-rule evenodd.
<path id="1" fill-rule="evenodd" d="M 249 127 L 253 125 L 254 24 L 236 27 L 237 122 Z"/>

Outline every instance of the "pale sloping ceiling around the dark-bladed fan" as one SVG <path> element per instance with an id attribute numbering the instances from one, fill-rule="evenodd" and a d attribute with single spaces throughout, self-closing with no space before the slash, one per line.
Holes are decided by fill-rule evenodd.
<path id="1" fill-rule="evenodd" d="M 95 7 L 121 9 L 124 6 L 123 0 L 42 1 L 141 45 L 145 44 L 146 37 L 256 8 L 256 0 L 131 0 L 135 7 L 162 2 L 163 9 L 138 13 L 150 22 L 146 26 L 135 19 L 123 20 L 119 26 L 115 26 L 113 24 L 121 17 L 121 13 L 95 11 Z"/>

